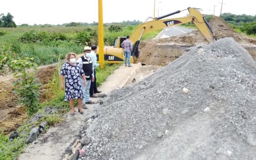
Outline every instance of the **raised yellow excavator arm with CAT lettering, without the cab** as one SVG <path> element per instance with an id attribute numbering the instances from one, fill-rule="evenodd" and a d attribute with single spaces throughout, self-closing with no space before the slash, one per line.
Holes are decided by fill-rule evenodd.
<path id="1" fill-rule="evenodd" d="M 182 18 L 174 18 L 174 19 L 163 19 L 165 17 L 168 17 L 170 15 L 175 15 L 177 13 L 180 13 L 181 11 L 178 10 L 176 12 L 173 12 L 168 15 L 164 15 L 161 17 L 157 17 L 155 19 L 152 19 L 151 21 L 147 21 L 145 23 L 140 24 L 131 34 L 130 40 L 131 43 L 134 45 L 132 55 L 134 55 L 136 58 L 139 57 L 138 52 L 138 45 L 140 43 L 140 39 L 144 34 L 147 34 L 149 32 L 158 30 L 158 29 L 164 29 L 166 27 L 177 25 L 177 24 L 184 24 L 188 22 L 192 22 L 196 25 L 196 28 L 200 31 L 200 33 L 206 38 L 206 40 L 211 43 L 214 39 L 216 39 L 214 33 L 212 32 L 212 29 L 208 22 L 203 18 L 201 13 L 196 10 L 195 8 L 188 8 L 189 16 L 182 17 Z"/>

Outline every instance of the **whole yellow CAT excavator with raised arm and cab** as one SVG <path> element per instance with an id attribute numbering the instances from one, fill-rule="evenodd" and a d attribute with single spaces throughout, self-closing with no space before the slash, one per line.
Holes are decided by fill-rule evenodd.
<path id="1" fill-rule="evenodd" d="M 171 15 L 175 15 L 184 10 L 177 10 L 176 12 L 170 13 L 168 15 L 163 15 L 161 17 L 151 18 L 151 21 L 147 21 L 140 24 L 132 34 L 130 35 L 130 40 L 133 45 L 132 53 L 131 53 L 131 63 L 136 62 L 137 58 L 139 58 L 138 46 L 140 44 L 141 37 L 149 32 L 164 29 L 169 26 L 184 24 L 188 22 L 192 22 L 196 25 L 197 29 L 201 32 L 201 34 L 206 38 L 206 40 L 211 43 L 214 39 L 216 40 L 216 36 L 213 33 L 210 25 L 206 21 L 206 19 L 201 15 L 201 13 L 195 8 L 187 8 L 189 11 L 189 16 L 182 18 L 174 18 L 174 19 L 163 19 Z M 148 19 L 149 19 L 148 18 Z M 123 63 L 124 49 L 121 47 L 122 42 L 126 39 L 126 37 L 118 37 L 114 41 L 114 46 L 104 47 L 104 59 L 106 63 Z M 99 59 L 98 49 L 97 49 L 97 59 Z"/>

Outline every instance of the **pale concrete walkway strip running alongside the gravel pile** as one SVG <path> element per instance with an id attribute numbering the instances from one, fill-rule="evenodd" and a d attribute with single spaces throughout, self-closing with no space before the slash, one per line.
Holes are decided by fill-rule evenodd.
<path id="1" fill-rule="evenodd" d="M 133 80 L 140 68 L 141 63 L 132 64 L 132 67 L 120 66 L 98 89 L 108 94 L 116 88 L 124 87 Z M 64 116 L 65 122 L 51 127 L 41 135 L 20 154 L 18 160 L 61 160 L 64 158 L 65 151 L 77 143 L 77 136 L 83 129 L 84 120 L 87 118 L 86 114 L 89 114 L 97 105 L 88 105 L 89 109 L 85 110 L 85 115 L 79 114 L 77 108 L 75 108 L 75 116 L 67 113 Z M 72 152 L 77 154 L 74 150 Z"/>

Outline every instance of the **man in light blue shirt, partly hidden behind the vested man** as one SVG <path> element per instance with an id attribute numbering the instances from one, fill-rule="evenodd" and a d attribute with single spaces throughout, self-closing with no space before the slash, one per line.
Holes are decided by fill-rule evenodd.
<path id="1" fill-rule="evenodd" d="M 95 68 L 97 68 L 100 65 L 99 63 L 97 63 L 96 52 L 97 52 L 97 46 L 92 45 L 91 46 L 91 52 L 88 55 L 92 59 L 92 63 L 93 63 L 93 67 L 94 67 L 94 82 L 91 81 L 91 83 L 90 83 L 90 97 L 96 97 L 94 95 L 94 93 L 100 93 L 101 92 L 101 91 L 98 91 L 98 89 L 96 87 L 96 71 L 95 71 Z"/>

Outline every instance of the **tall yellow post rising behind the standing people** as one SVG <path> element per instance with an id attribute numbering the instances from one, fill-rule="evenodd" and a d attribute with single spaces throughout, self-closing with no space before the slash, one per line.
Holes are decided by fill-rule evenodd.
<path id="1" fill-rule="evenodd" d="M 99 63 L 100 63 L 100 68 L 104 68 L 104 40 L 103 40 L 103 9 L 102 9 L 102 0 L 99 0 L 99 27 L 98 27 L 98 32 L 99 32 Z"/>

